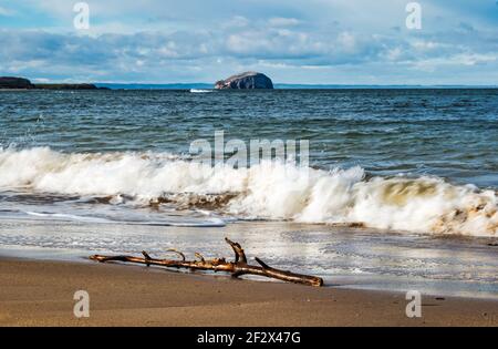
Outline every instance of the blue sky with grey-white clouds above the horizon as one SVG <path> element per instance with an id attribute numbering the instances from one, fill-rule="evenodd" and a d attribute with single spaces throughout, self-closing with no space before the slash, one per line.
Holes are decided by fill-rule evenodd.
<path id="1" fill-rule="evenodd" d="M 498 1 L 0 0 L 0 75 L 35 82 L 498 84 Z M 81 23 L 81 22 L 80 22 Z M 409 21 L 409 23 L 414 23 Z M 409 24 L 408 23 L 408 24 Z M 409 27 L 409 28 L 408 28 Z"/>

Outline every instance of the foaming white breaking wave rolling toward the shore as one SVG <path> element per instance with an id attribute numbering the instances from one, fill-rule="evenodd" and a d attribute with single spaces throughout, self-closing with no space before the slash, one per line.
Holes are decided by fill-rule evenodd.
<path id="1" fill-rule="evenodd" d="M 366 178 L 261 163 L 235 170 L 168 153 L 0 150 L 0 191 L 129 197 L 141 205 L 198 207 L 241 218 L 284 219 L 432 234 L 497 236 L 498 193 L 422 176 Z"/>

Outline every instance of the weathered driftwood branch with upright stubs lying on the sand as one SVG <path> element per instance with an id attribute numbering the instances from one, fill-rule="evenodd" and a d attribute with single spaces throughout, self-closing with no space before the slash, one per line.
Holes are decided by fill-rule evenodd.
<path id="1" fill-rule="evenodd" d="M 239 277 L 241 275 L 258 275 L 279 280 L 304 284 L 310 286 L 322 286 L 323 279 L 315 276 L 301 275 L 287 270 L 280 270 L 268 266 L 261 259 L 256 257 L 259 266 L 249 265 L 247 263 L 246 253 L 238 243 L 234 243 L 228 238 L 225 240 L 231 246 L 235 253 L 235 261 L 227 261 L 225 258 L 205 259 L 203 255 L 196 253 L 197 260 L 186 260 L 185 255 L 176 249 L 168 249 L 168 252 L 177 254 L 181 259 L 156 259 L 152 258 L 145 250 L 142 252 L 144 257 L 134 256 L 101 256 L 94 255 L 90 259 L 97 261 L 128 261 L 145 264 L 147 266 L 163 266 L 168 268 L 188 268 L 193 270 L 211 270 L 211 271 L 225 271 L 231 274 L 232 277 Z"/>

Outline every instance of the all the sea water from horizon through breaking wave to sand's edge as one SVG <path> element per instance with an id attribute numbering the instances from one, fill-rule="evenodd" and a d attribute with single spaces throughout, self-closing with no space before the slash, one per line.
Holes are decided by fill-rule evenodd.
<path id="1" fill-rule="evenodd" d="M 215 144 L 216 131 L 247 144 L 308 140 L 309 166 L 193 165 L 191 142 Z M 0 146 L 4 247 L 160 250 L 170 237 L 201 249 L 218 244 L 212 232 L 243 239 L 238 227 L 252 224 L 320 275 L 336 263 L 352 277 L 405 270 L 498 290 L 496 89 L 3 91 Z M 131 244 L 131 230 L 144 235 Z M 363 270 L 365 253 L 349 253 L 359 242 L 396 263 Z M 288 266 L 271 246 L 259 250 Z M 428 265 L 411 260 L 432 246 L 459 253 L 424 275 Z"/>

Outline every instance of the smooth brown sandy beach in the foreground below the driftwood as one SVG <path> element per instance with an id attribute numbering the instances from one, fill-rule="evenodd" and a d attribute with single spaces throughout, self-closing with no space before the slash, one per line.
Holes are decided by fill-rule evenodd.
<path id="1" fill-rule="evenodd" d="M 0 259 L 0 326 L 497 326 L 498 301 L 234 280 L 159 268 Z M 75 318 L 73 295 L 90 294 Z"/>

